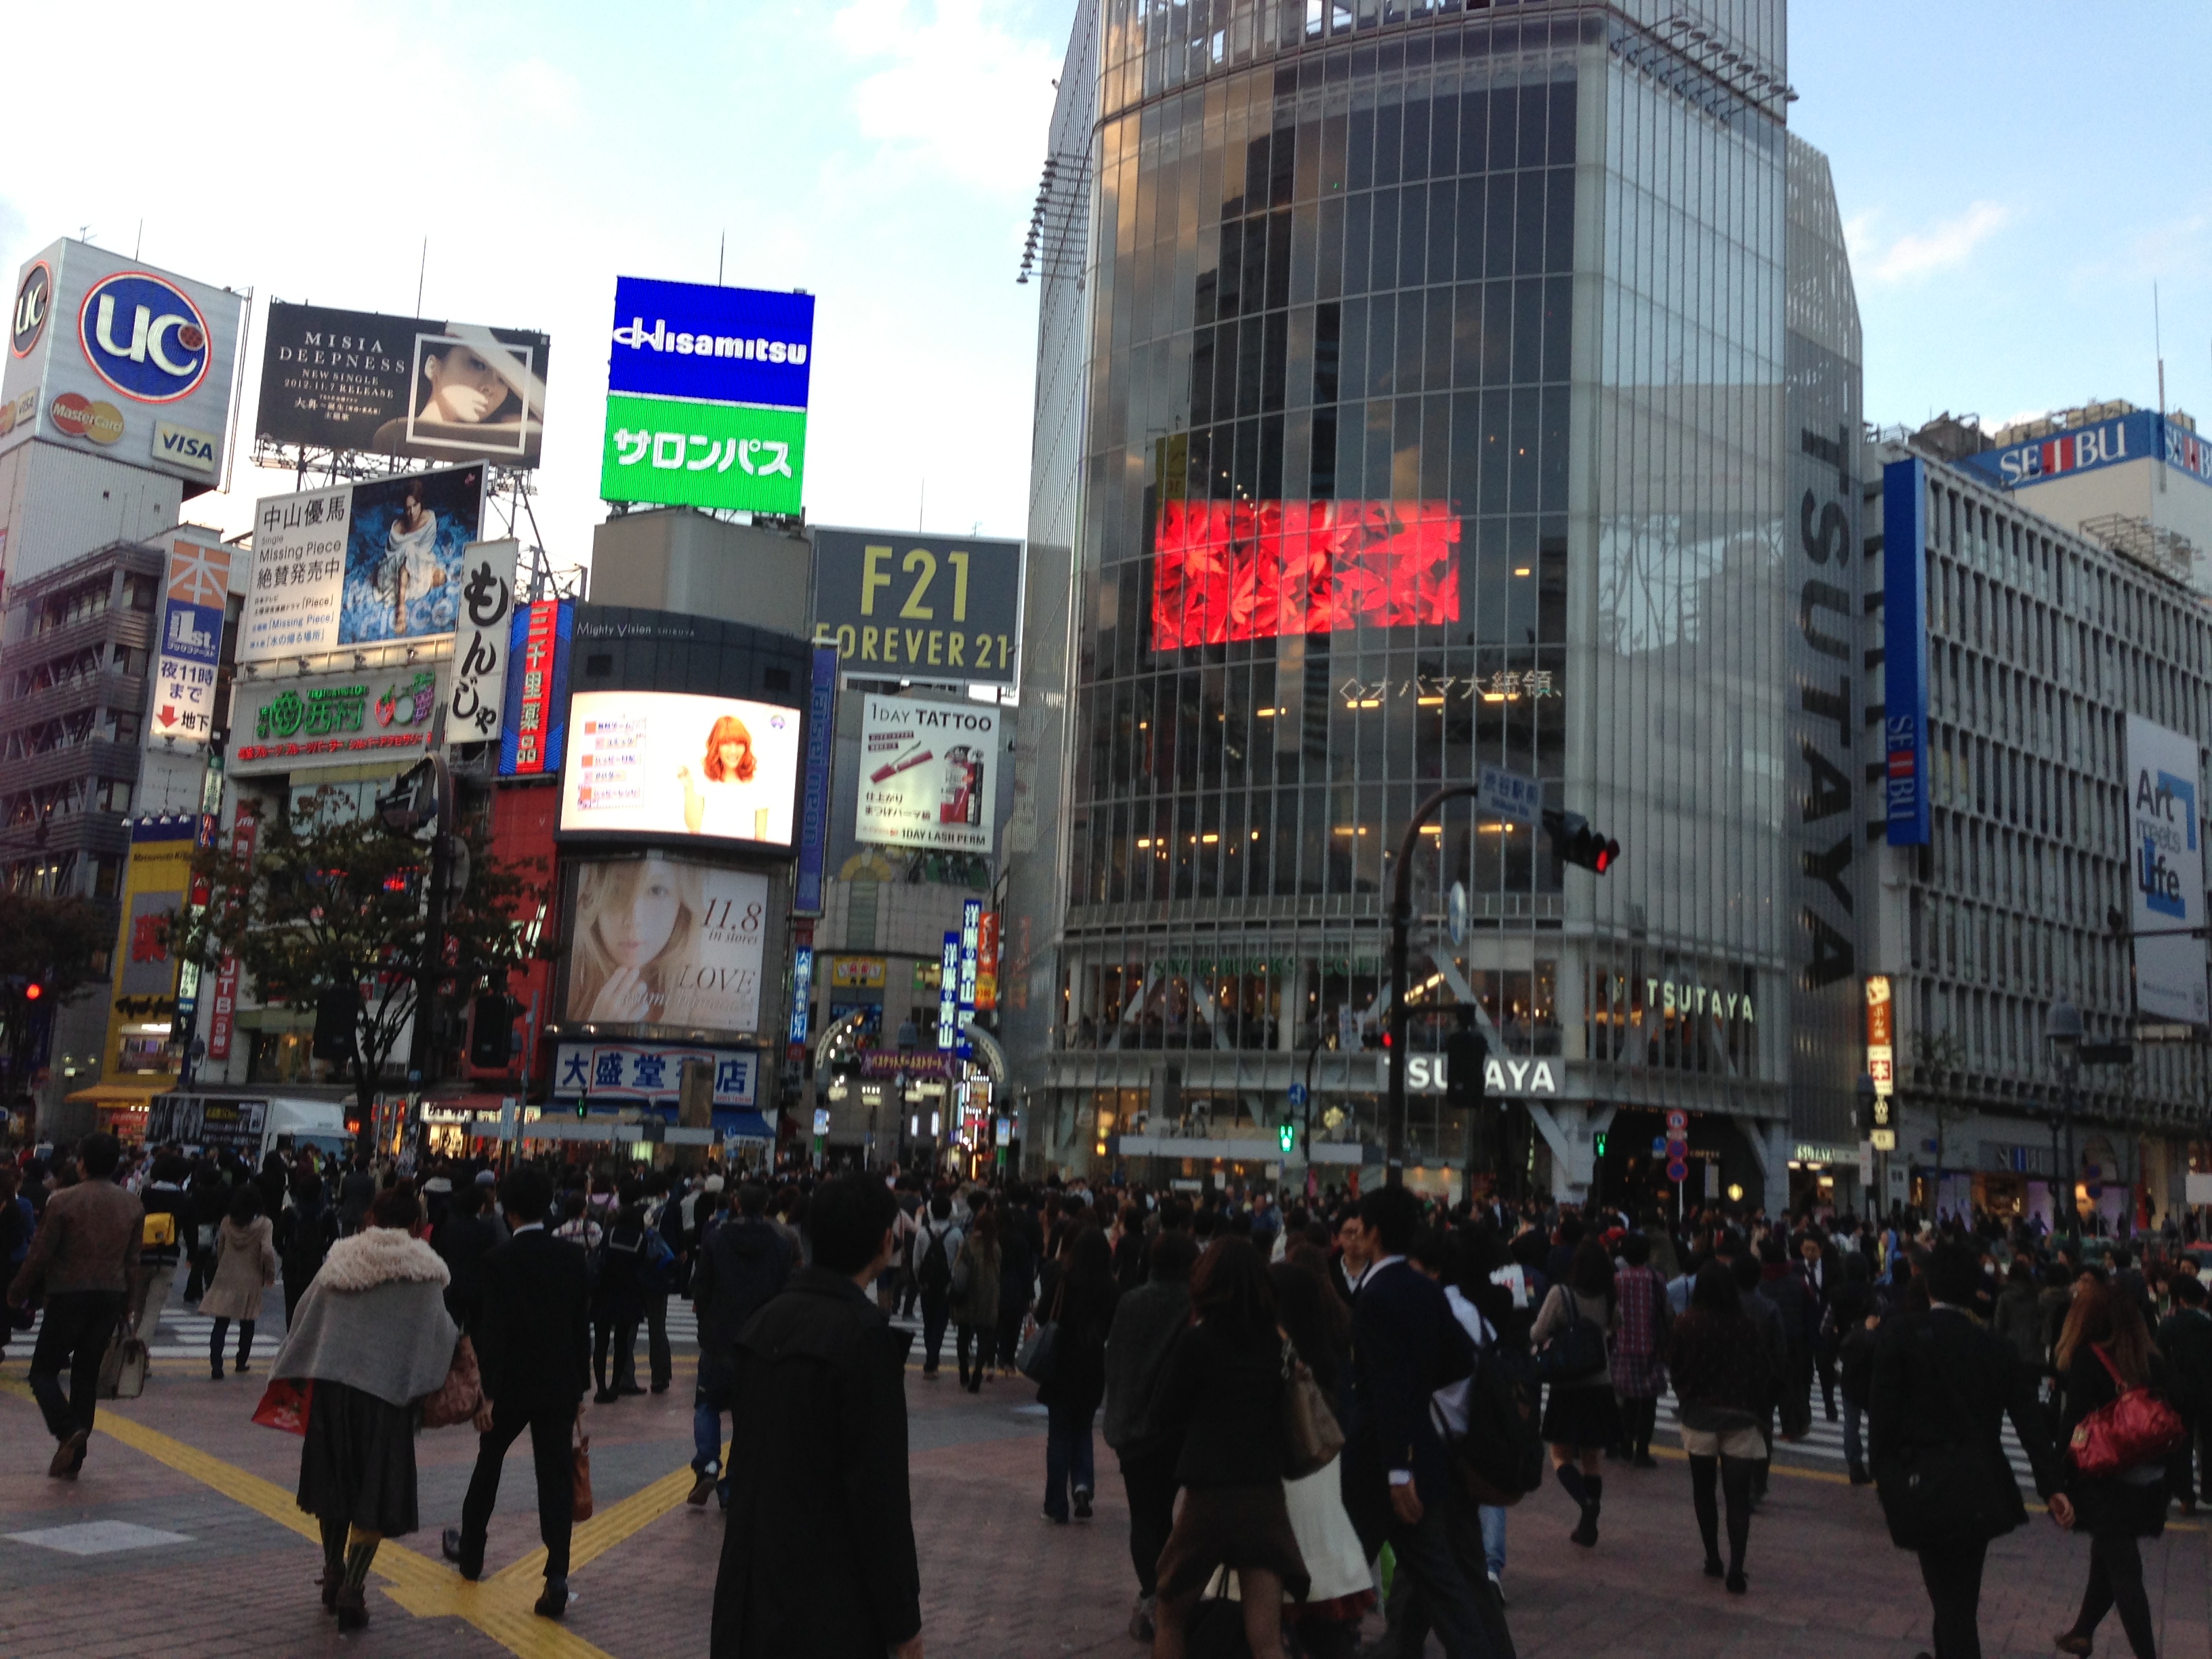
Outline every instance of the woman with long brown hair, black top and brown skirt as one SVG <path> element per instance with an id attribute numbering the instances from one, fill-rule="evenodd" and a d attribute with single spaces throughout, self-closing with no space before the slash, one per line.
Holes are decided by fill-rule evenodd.
<path id="1" fill-rule="evenodd" d="M 1082 1252 L 1079 1241 L 1077 1272 Z M 1168 1356 L 1155 1409 L 1161 1431 L 1183 1442 L 1175 1464 L 1183 1504 L 1159 1555 L 1155 1659 L 1183 1657 L 1217 1568 L 1237 1573 L 1252 1659 L 1281 1659 L 1283 1597 L 1303 1601 L 1310 1579 L 1283 1500 L 1283 1336 L 1250 1239 L 1221 1234 L 1199 1256 L 1190 1329 Z"/>

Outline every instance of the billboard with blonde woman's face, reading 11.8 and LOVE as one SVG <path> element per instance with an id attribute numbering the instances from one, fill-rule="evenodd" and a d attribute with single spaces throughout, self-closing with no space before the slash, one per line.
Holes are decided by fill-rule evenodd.
<path id="1" fill-rule="evenodd" d="M 752 1033 L 768 876 L 688 858 L 575 869 L 562 1022 Z"/>

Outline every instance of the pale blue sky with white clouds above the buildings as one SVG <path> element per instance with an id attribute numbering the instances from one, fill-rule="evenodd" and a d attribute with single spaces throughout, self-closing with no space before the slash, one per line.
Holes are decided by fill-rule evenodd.
<path id="1" fill-rule="evenodd" d="M 0 270 L 77 226 L 263 296 L 553 334 L 540 524 L 599 518 L 617 272 L 818 294 L 810 515 L 1020 535 L 1013 283 L 1073 0 L 7 4 Z M 157 51 L 117 42 L 159 40 Z M 1794 126 L 1836 166 L 1867 416 L 2097 396 L 2212 416 L 2203 0 L 1805 0 Z M 53 64 L 60 73 L 24 73 Z M 84 71 L 86 77 L 71 73 Z M 259 334 L 259 332 L 257 332 Z M 248 385 L 259 378 L 259 336 Z M 204 518 L 241 526 L 250 495 Z"/>

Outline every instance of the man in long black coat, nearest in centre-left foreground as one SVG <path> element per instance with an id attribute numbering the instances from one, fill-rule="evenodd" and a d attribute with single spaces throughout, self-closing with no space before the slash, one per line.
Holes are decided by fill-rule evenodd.
<path id="1" fill-rule="evenodd" d="M 914 1338 L 867 1294 L 891 1263 L 896 1212 L 876 1177 L 818 1186 L 812 1261 L 737 1343 L 732 1411 L 774 1433 L 730 1471 L 712 1659 L 922 1659 L 907 1493 Z"/>

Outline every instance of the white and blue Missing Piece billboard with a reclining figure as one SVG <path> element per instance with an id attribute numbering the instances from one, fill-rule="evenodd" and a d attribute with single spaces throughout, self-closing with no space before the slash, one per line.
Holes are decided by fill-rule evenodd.
<path id="1" fill-rule="evenodd" d="M 482 522 L 482 467 L 261 498 L 239 661 L 453 633 Z"/>

